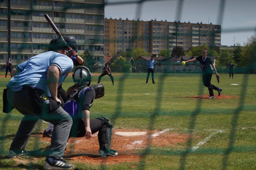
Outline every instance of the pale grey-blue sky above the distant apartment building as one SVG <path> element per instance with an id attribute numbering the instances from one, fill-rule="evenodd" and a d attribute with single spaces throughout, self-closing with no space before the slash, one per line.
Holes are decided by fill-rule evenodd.
<path id="1" fill-rule="evenodd" d="M 108 19 L 221 25 L 222 46 L 242 46 L 251 36 L 256 37 L 255 9 L 256 0 L 105 0 Z"/>

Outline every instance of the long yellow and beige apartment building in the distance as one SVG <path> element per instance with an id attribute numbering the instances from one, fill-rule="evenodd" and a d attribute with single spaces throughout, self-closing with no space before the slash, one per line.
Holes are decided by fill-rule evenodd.
<path id="1" fill-rule="evenodd" d="M 221 25 L 105 18 L 105 57 L 127 48 L 158 54 L 175 46 L 188 50 L 202 44 L 220 46 Z"/>

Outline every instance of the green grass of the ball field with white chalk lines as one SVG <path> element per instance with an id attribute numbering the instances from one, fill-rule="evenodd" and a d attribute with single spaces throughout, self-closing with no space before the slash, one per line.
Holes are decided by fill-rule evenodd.
<path id="1" fill-rule="evenodd" d="M 4 74 L 4 73 L 0 73 Z M 114 128 L 165 130 L 166 133 L 193 134 L 182 144 L 172 147 L 151 146 L 138 151 L 142 159 L 133 163 L 99 164 L 69 162 L 75 169 L 256 169 L 256 75 L 235 74 L 229 79 L 221 74 L 217 84 L 213 76 L 212 84 L 223 88 L 222 94 L 230 99 L 197 99 L 192 96 L 208 94 L 203 86 L 201 74 L 155 73 L 148 85 L 146 73 L 114 75 L 115 86 L 110 77 L 104 76 L 105 96 L 95 100 L 90 109 L 91 118 L 106 116 Z M 150 75 L 151 76 L 151 75 Z M 97 83 L 93 77 L 92 84 Z M 0 93 L 9 78 L 0 78 Z M 239 84 L 239 85 L 230 85 Z M 73 85 L 72 77 L 63 83 L 66 90 Z M 215 96 L 218 92 L 214 91 Z M 2 106 L 2 97 L 0 100 Z M 10 113 L 0 112 L 1 169 L 42 169 L 45 156 L 32 161 L 32 156 L 19 159 L 31 160 L 19 164 L 17 159 L 8 159 L 8 150 L 23 115 L 15 109 Z M 33 134 L 47 128 L 39 121 Z M 26 150 L 43 150 L 47 145 L 37 138 L 30 138 Z M 120 154 L 120 153 L 119 153 Z M 38 158 L 38 156 L 37 156 Z"/>

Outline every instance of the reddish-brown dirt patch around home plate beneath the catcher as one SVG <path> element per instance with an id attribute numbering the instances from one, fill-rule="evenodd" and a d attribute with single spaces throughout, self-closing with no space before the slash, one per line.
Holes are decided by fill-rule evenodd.
<path id="1" fill-rule="evenodd" d="M 114 135 L 115 132 L 147 132 L 144 136 L 123 137 Z M 163 147 L 185 143 L 188 139 L 188 134 L 178 133 L 159 133 L 160 131 L 136 130 L 136 129 L 113 129 L 111 138 L 111 149 L 118 152 L 117 157 L 99 157 L 99 142 L 97 134 L 89 140 L 84 138 L 70 138 L 67 149 L 64 152 L 63 158 L 69 161 L 78 161 L 89 164 L 117 164 L 122 162 L 139 161 L 139 151 L 146 147 Z M 154 135 L 152 135 L 154 134 Z M 50 142 L 50 138 L 43 138 L 41 135 L 36 135 L 39 140 Z M 197 137 L 197 136 L 194 136 Z"/>

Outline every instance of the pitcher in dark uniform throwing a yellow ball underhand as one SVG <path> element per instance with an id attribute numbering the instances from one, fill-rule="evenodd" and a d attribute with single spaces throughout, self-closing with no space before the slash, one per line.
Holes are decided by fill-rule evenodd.
<path id="1" fill-rule="evenodd" d="M 216 76 L 218 75 L 217 70 L 212 62 L 212 60 L 206 56 L 207 55 L 207 49 L 203 49 L 202 55 L 196 58 L 193 58 L 192 60 L 188 61 L 183 61 L 185 63 L 192 63 L 194 61 L 199 61 L 201 65 L 201 69 L 203 72 L 203 85 L 208 87 L 209 90 L 209 95 L 208 99 L 214 99 L 214 93 L 213 90 L 218 91 L 218 95 L 221 95 L 222 88 L 218 88 L 215 85 L 212 85 L 211 80 L 212 80 L 212 68 L 215 71 Z M 212 67 L 211 67 L 212 66 Z"/>

